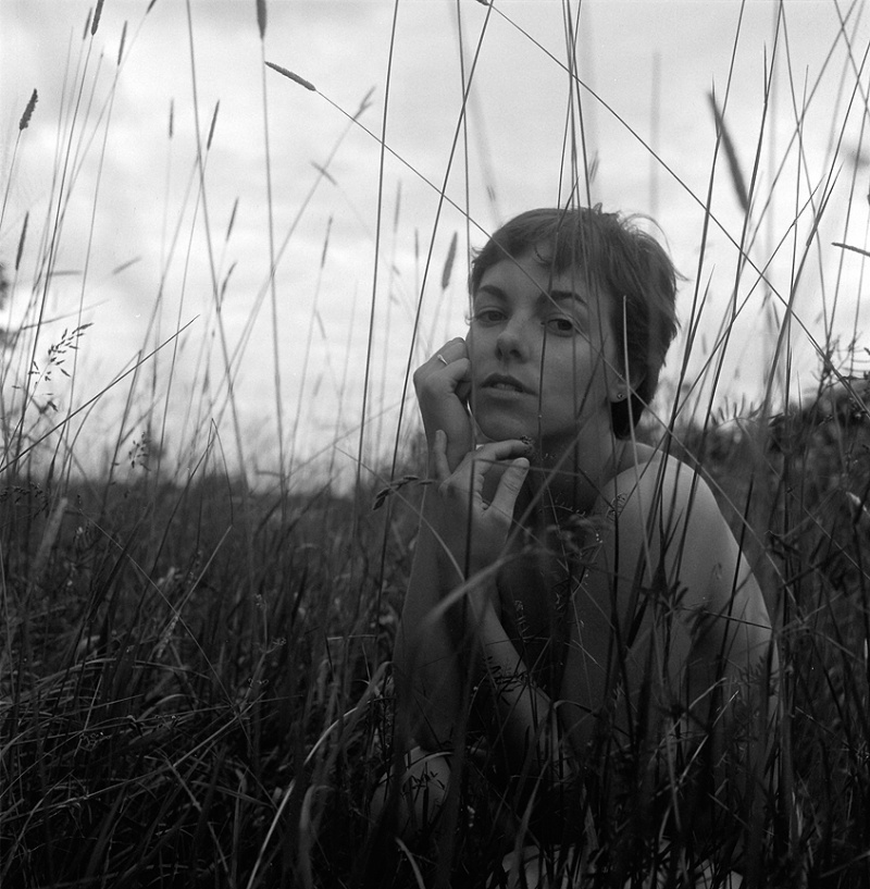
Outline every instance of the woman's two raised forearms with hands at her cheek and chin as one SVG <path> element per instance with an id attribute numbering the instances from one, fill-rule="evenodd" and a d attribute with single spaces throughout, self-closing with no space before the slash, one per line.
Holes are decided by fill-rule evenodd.
<path id="1" fill-rule="evenodd" d="M 496 442 L 472 452 L 468 373 L 464 342 L 453 339 L 414 374 L 430 478 L 437 486 L 424 494 L 394 652 L 399 718 L 406 741 L 428 750 L 450 746 L 465 715 L 465 692 L 486 680 L 497 687 L 496 731 L 508 741 L 517 769 L 524 752 L 534 750 L 531 764 L 538 771 L 554 760 L 555 717 L 501 625 L 495 587 L 527 470 L 515 458 L 527 453 L 527 445 Z M 501 474 L 486 502 L 484 480 L 494 467 Z M 450 596 L 456 602 L 446 607 Z"/>

